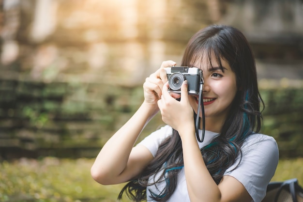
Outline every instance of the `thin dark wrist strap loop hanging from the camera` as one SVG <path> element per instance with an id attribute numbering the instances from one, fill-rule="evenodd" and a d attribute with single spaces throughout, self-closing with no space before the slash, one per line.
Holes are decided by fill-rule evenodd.
<path id="1" fill-rule="evenodd" d="M 202 74 L 202 73 L 201 73 Z M 203 104 L 203 97 L 202 97 L 202 92 L 203 92 L 203 84 L 204 80 L 201 75 L 201 81 L 200 81 L 200 88 L 199 88 L 199 100 L 198 100 L 198 111 L 196 115 L 196 123 L 195 123 L 195 129 L 196 129 L 196 137 L 199 142 L 203 142 L 204 140 L 204 134 L 205 134 L 205 115 L 204 115 L 204 104 Z M 200 139 L 199 137 L 199 125 L 200 125 L 200 110 L 202 107 L 202 137 Z"/>

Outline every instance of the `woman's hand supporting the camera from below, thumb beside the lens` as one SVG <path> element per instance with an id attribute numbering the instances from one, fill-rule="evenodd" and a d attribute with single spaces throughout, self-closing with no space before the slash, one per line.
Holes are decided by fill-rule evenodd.
<path id="1" fill-rule="evenodd" d="M 158 107 L 161 111 L 162 120 L 177 130 L 183 130 L 194 125 L 194 111 L 189 103 L 187 92 L 187 80 L 182 83 L 181 101 L 174 97 L 174 93 L 168 93 L 168 82 L 163 86 L 161 99 L 158 100 Z"/>

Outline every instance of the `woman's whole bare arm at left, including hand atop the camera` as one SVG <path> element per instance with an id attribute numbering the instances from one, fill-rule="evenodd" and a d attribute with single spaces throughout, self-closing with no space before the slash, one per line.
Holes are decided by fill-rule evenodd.
<path id="1" fill-rule="evenodd" d="M 91 167 L 91 176 L 100 184 L 119 184 L 138 175 L 153 156 L 144 146 L 134 147 L 146 124 L 159 111 L 157 101 L 167 81 L 164 67 L 175 62 L 163 62 L 160 69 L 146 78 L 143 84 L 144 102 L 130 120 L 103 146 Z"/>

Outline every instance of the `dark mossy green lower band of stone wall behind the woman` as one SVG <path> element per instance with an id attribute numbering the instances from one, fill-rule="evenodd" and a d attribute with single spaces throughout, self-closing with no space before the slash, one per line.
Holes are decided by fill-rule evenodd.
<path id="1" fill-rule="evenodd" d="M 281 156 L 303 154 L 303 82 L 300 85 L 261 88 L 266 104 L 262 132 L 278 141 Z M 93 82 L 2 80 L 0 92 L 2 158 L 93 157 L 143 101 L 141 86 Z M 163 125 L 159 115 L 148 124 L 140 140 Z"/>

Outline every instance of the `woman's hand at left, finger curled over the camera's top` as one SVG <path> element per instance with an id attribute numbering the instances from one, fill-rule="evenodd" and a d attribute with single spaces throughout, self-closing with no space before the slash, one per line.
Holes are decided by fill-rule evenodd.
<path id="1" fill-rule="evenodd" d="M 157 102 L 161 99 L 162 88 L 167 82 L 167 74 L 164 68 L 174 65 L 176 65 L 176 62 L 174 61 L 164 61 L 156 72 L 145 79 L 143 84 L 144 102 L 154 109 L 159 110 Z"/>

